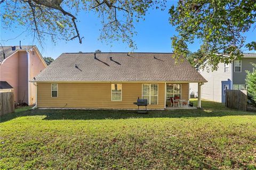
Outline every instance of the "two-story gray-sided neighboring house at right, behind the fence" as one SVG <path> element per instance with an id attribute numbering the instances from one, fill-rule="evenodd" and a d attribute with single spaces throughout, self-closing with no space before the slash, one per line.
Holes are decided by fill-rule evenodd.
<path id="1" fill-rule="evenodd" d="M 211 71 L 211 66 L 204 70 L 198 69 L 198 72 L 208 81 L 202 86 L 202 99 L 225 102 L 227 89 L 245 90 L 246 70 L 252 71 L 252 63 L 256 63 L 256 53 L 244 53 L 241 60 L 235 60 L 232 63 L 219 63 L 218 69 Z M 197 96 L 197 84 L 191 83 L 190 94 Z"/>

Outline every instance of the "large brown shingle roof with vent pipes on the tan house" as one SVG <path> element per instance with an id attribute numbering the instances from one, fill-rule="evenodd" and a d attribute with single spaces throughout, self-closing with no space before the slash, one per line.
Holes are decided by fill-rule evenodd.
<path id="1" fill-rule="evenodd" d="M 36 76 L 35 81 L 206 82 L 187 60 L 175 64 L 172 55 L 173 53 L 97 53 L 94 59 L 94 53 L 62 53 Z"/>

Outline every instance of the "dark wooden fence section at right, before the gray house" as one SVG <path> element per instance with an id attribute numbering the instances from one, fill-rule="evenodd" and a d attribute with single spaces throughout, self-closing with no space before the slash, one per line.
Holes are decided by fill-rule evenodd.
<path id="1" fill-rule="evenodd" d="M 227 90 L 226 107 L 247 110 L 247 91 L 246 90 Z"/>

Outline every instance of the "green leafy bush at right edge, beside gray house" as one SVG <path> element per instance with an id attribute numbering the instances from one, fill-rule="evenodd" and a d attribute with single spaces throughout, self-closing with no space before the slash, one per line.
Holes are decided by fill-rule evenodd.
<path id="1" fill-rule="evenodd" d="M 246 76 L 246 86 L 247 86 L 247 91 L 250 93 L 252 96 L 252 99 L 256 103 L 256 64 L 253 64 L 254 68 L 253 71 L 246 71 L 247 76 Z"/>

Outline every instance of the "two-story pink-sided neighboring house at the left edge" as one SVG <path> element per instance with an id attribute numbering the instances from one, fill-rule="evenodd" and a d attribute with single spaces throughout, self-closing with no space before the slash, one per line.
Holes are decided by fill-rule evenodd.
<path id="1" fill-rule="evenodd" d="M 29 82 L 47 67 L 35 45 L 0 47 L 0 81 L 14 89 L 16 103 L 36 102 L 36 86 Z"/>

